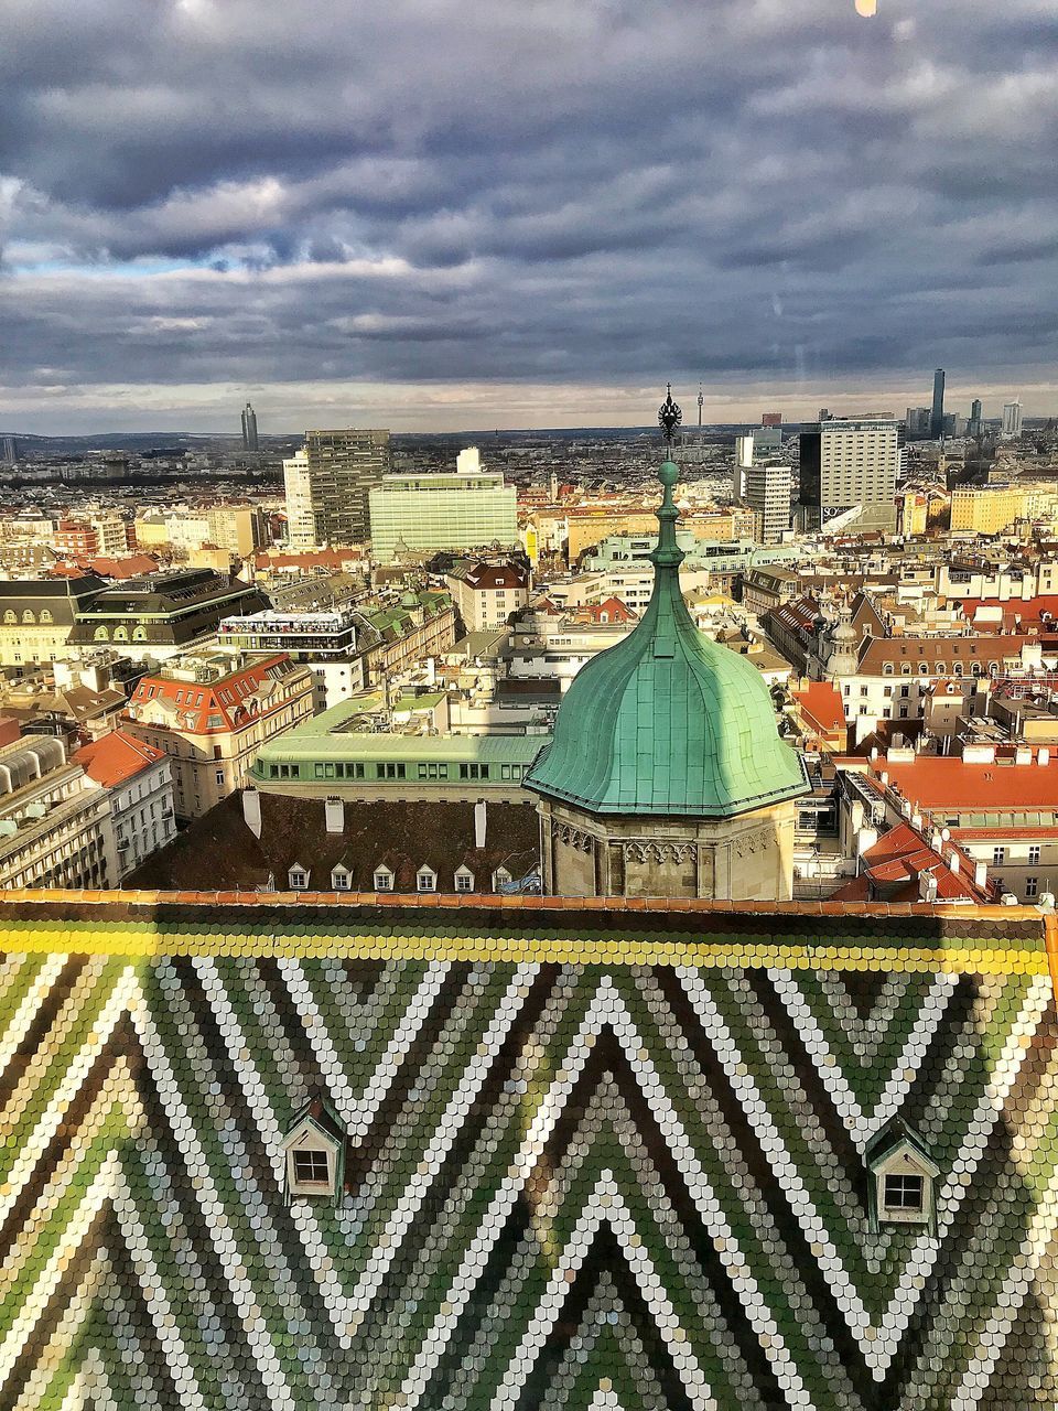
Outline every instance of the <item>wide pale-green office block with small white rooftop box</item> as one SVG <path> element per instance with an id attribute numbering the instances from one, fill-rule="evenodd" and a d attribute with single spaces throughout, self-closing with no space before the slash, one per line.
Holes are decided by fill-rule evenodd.
<path id="1" fill-rule="evenodd" d="M 518 492 L 501 471 L 482 470 L 475 447 L 460 452 L 454 474 L 387 476 L 370 504 L 371 556 L 379 563 L 519 542 Z"/>

